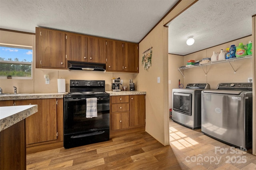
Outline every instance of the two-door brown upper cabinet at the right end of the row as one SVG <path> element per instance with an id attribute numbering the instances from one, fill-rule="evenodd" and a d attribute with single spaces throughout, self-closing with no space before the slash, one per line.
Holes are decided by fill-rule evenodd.
<path id="1" fill-rule="evenodd" d="M 107 71 L 138 73 L 138 44 L 107 40 Z"/>

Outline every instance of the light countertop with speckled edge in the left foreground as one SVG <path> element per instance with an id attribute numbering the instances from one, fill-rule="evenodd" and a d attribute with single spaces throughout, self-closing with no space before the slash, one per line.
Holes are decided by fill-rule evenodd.
<path id="1" fill-rule="evenodd" d="M 0 107 L 0 131 L 38 112 L 37 105 Z"/>

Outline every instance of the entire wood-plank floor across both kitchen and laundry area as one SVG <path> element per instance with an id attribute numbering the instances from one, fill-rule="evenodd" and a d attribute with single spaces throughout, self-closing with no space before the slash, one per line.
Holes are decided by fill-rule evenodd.
<path id="1" fill-rule="evenodd" d="M 170 121 L 170 146 L 163 146 L 147 132 L 126 134 L 97 144 L 28 154 L 27 169 L 256 170 L 256 156 L 250 152 L 234 150 L 200 129 Z"/>

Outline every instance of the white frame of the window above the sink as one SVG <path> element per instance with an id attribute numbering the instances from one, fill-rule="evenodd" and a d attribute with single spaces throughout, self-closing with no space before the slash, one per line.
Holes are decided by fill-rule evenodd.
<path id="1" fill-rule="evenodd" d="M 32 50 L 32 62 L 26 62 L 31 63 L 31 77 L 14 77 L 12 76 L 12 79 L 26 79 L 26 80 L 32 80 L 33 79 L 33 71 L 34 71 L 34 48 L 30 45 L 18 45 L 18 44 L 9 44 L 9 43 L 0 43 L 0 46 L 2 47 L 10 47 L 10 48 L 22 48 L 22 49 L 30 49 Z M 16 64 L 24 64 L 23 61 L 6 61 L 6 60 L 0 60 L 1 63 L 16 63 Z M 0 76 L 0 79 L 7 79 L 7 76 Z"/>

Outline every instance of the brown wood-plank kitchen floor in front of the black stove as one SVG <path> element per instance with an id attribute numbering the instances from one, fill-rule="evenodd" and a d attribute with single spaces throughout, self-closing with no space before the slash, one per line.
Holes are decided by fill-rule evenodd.
<path id="1" fill-rule="evenodd" d="M 147 132 L 122 135 L 106 142 L 58 148 L 27 155 L 27 169 L 181 169 L 171 146 L 163 146 Z"/>

